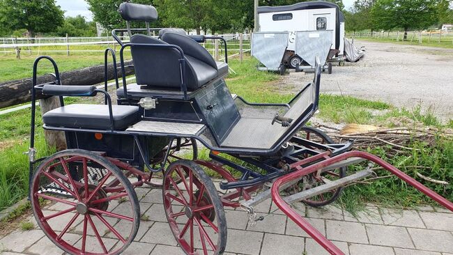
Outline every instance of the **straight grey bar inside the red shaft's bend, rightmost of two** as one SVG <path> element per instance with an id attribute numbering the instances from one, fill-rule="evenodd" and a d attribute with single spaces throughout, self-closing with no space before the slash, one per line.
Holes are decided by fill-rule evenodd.
<path id="1" fill-rule="evenodd" d="M 314 187 L 312 189 L 305 190 L 303 192 L 299 192 L 296 194 L 292 194 L 291 196 L 286 196 L 283 200 L 286 203 L 294 203 L 297 201 L 301 201 L 303 199 L 308 199 L 309 197 L 316 196 L 318 194 L 323 194 L 324 192 L 328 192 L 329 190 L 334 190 L 334 189 L 337 189 L 338 187 L 342 187 L 344 185 L 353 183 L 356 180 L 360 180 L 367 176 L 371 176 L 371 174 L 373 174 L 373 173 L 374 173 L 374 171 L 369 170 L 369 169 L 359 171 L 357 173 L 351 174 L 351 176 L 346 176 L 346 177 L 338 179 L 338 180 L 330 181 L 329 183 L 326 183 L 324 185 Z"/>

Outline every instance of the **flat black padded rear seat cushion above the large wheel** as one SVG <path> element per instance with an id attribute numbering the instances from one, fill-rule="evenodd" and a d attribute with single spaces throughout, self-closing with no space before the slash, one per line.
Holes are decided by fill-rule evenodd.
<path id="1" fill-rule="evenodd" d="M 112 105 L 114 130 L 125 130 L 139 119 L 139 107 Z M 43 115 L 43 122 L 52 127 L 70 127 L 95 130 L 110 129 L 108 105 L 65 105 Z"/>

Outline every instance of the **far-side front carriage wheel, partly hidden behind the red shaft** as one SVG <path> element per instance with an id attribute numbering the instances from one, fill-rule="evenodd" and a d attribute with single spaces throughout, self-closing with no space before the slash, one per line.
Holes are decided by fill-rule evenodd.
<path id="1" fill-rule="evenodd" d="M 298 135 L 310 141 L 315 141 L 319 144 L 334 144 L 332 138 L 325 134 L 325 132 L 318 130 L 314 127 L 304 126 L 298 133 Z M 308 190 L 319 185 L 323 185 L 331 180 L 337 180 L 346 176 L 346 167 L 341 167 L 339 169 L 333 169 L 331 171 L 325 171 L 321 173 L 321 176 L 316 176 L 316 172 L 310 174 L 303 178 L 297 185 L 294 185 L 293 192 L 301 192 L 303 190 Z M 335 200 L 341 195 L 342 188 L 339 187 L 334 190 L 330 190 L 323 194 L 312 196 L 309 199 L 302 200 L 308 206 L 321 207 L 326 206 Z"/>

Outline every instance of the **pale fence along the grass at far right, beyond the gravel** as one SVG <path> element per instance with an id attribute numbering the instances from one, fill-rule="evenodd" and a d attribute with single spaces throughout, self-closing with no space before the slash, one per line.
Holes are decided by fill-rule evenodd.
<path id="1" fill-rule="evenodd" d="M 368 31 L 368 32 L 349 32 L 347 38 L 382 38 L 395 41 L 404 39 L 404 31 Z M 407 41 L 438 44 L 453 44 L 453 31 L 431 30 L 431 31 L 408 31 Z"/>

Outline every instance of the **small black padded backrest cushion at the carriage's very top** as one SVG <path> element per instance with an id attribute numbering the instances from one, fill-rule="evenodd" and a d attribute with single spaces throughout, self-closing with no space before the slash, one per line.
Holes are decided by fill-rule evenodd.
<path id="1" fill-rule="evenodd" d="M 137 3 L 121 3 L 119 12 L 124 20 L 151 22 L 158 20 L 158 11 L 154 6 L 137 4 Z"/>

